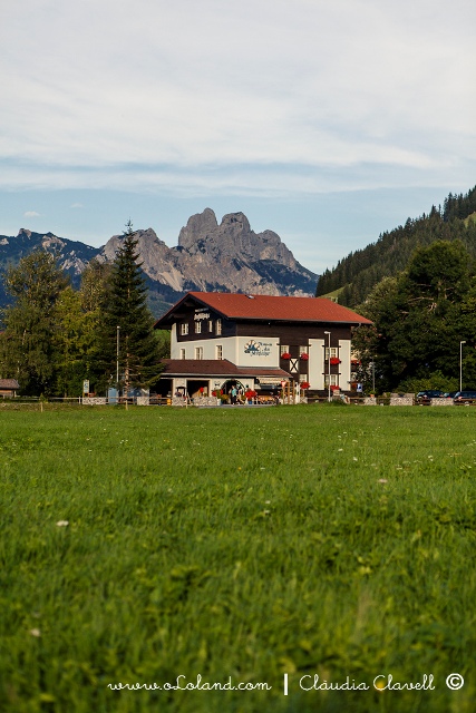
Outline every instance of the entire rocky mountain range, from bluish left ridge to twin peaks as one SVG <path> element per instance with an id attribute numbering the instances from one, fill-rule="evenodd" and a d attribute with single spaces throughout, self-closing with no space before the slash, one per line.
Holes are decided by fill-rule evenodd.
<path id="1" fill-rule="evenodd" d="M 243 213 L 229 213 L 218 224 L 211 208 L 191 216 L 181 229 L 178 244 L 168 247 L 149 227 L 135 231 L 149 304 L 158 316 L 187 291 L 254 292 L 311 296 L 318 275 L 303 267 L 278 233 L 255 233 Z M 33 250 L 58 255 L 74 285 L 87 263 L 111 262 L 124 235 L 113 235 L 93 247 L 54 233 L 20 228 L 16 237 L 0 235 L 0 268 L 17 264 Z M 7 295 L 0 284 L 0 304 Z"/>

